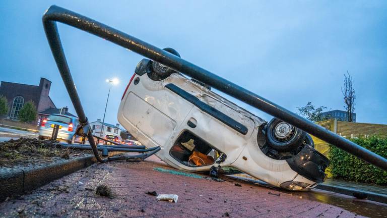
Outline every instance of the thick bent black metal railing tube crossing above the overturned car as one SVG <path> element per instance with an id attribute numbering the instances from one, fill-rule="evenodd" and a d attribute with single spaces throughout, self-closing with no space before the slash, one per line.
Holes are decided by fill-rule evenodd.
<path id="1" fill-rule="evenodd" d="M 64 23 L 78 29 L 84 30 L 88 33 L 94 34 L 124 48 L 130 49 L 140 55 L 159 62 L 165 66 L 172 68 L 178 72 L 186 74 L 192 78 L 202 81 L 211 87 L 214 87 L 232 97 L 235 97 L 259 110 L 266 112 L 278 119 L 281 119 L 321 140 L 324 140 L 332 145 L 335 145 L 348 153 L 351 153 L 360 159 L 363 159 L 372 165 L 387 171 L 387 159 L 377 155 L 351 141 L 345 139 L 329 130 L 318 126 L 285 108 L 248 91 L 226 79 L 223 79 L 199 66 L 191 64 L 171 53 L 148 44 L 138 38 L 135 38 L 126 33 L 120 32 L 107 25 L 99 23 L 95 20 L 77 14 L 75 12 L 51 6 L 43 16 L 43 26 L 46 36 L 51 47 L 56 65 L 59 69 L 60 75 L 63 79 L 64 85 L 69 92 L 71 100 L 74 104 L 75 110 L 78 114 L 79 120 L 86 127 L 88 139 L 90 141 L 91 131 L 88 131 L 87 118 L 83 111 L 77 89 L 71 77 L 70 69 L 63 53 L 63 48 L 60 42 L 56 22 Z M 99 157 L 95 144 L 92 144 L 94 154 Z M 95 147 L 95 149 L 94 149 Z M 103 161 L 100 157 L 100 161 Z"/>

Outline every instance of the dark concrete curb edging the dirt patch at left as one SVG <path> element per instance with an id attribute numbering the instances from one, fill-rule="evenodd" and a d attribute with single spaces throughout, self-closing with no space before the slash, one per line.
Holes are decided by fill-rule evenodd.
<path id="1" fill-rule="evenodd" d="M 89 167 L 97 162 L 94 155 L 49 163 L 39 167 L 0 169 L 0 201 L 11 195 L 24 194 L 63 176 Z"/>

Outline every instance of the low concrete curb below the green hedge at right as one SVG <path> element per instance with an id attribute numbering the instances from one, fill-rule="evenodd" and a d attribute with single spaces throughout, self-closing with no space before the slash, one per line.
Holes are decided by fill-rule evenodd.
<path id="1" fill-rule="evenodd" d="M 367 192 L 359 189 L 351 189 L 351 188 L 345 188 L 342 186 L 333 186 L 333 185 L 325 185 L 325 184 L 319 184 L 315 188 L 325 190 L 325 191 L 336 192 L 339 194 L 350 195 L 353 197 L 354 197 L 354 194 L 355 195 L 361 194 L 366 196 L 368 200 L 387 204 L 387 195 L 385 194 L 379 194 L 379 193 Z"/>

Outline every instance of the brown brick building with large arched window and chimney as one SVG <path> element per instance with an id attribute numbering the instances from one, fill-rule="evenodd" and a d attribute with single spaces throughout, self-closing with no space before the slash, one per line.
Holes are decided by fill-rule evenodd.
<path id="1" fill-rule="evenodd" d="M 5 96 L 8 100 L 9 110 L 7 118 L 15 121 L 19 120 L 20 109 L 30 100 L 35 104 L 38 113 L 48 108 L 56 108 L 48 95 L 50 88 L 51 81 L 46 78 L 40 78 L 38 86 L 1 81 L 0 95 Z M 39 118 L 37 118 L 35 123 L 38 121 Z"/>

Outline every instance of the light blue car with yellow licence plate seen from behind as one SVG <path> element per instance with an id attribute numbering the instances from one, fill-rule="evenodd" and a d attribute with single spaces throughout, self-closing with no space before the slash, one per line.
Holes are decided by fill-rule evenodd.
<path id="1" fill-rule="evenodd" d="M 75 142 L 75 130 L 79 124 L 78 118 L 60 114 L 50 115 L 41 122 L 39 139 L 50 139 L 55 124 L 59 125 L 56 139 L 67 141 L 70 144 Z"/>

